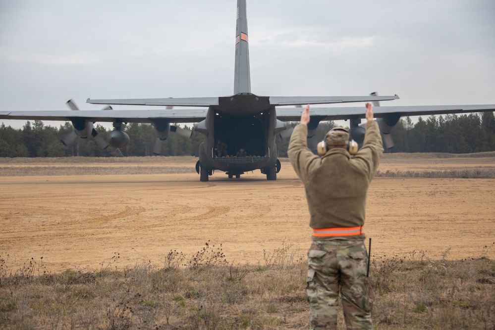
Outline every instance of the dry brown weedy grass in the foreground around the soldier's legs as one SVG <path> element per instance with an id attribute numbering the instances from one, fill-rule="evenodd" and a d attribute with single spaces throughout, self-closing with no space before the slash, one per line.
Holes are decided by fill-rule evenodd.
<path id="1" fill-rule="evenodd" d="M 495 244 L 495 243 L 494 243 Z M 424 252 L 373 257 L 376 329 L 495 329 L 495 261 L 448 261 Z M 201 262 L 198 255 L 201 254 Z M 290 244 L 265 265 L 235 265 L 208 243 L 190 259 L 170 251 L 164 267 L 44 271 L 43 260 L 10 270 L 0 258 L 2 329 L 307 329 L 307 266 Z M 339 329 L 344 329 L 342 315 Z"/>

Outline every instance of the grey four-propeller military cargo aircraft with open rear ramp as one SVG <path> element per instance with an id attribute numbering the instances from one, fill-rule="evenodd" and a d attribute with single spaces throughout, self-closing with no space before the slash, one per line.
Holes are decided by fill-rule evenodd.
<path id="1" fill-rule="evenodd" d="M 204 142 L 199 147 L 199 161 L 196 171 L 200 181 L 207 182 L 215 170 L 225 172 L 229 178 L 247 171 L 261 170 L 268 180 L 276 180 L 280 170 L 277 159 L 276 135 L 290 135 L 286 122 L 298 121 L 301 109 L 280 108 L 287 105 L 332 104 L 346 102 L 379 101 L 398 99 L 397 95 L 378 96 L 260 96 L 251 93 L 249 68 L 248 29 L 246 0 L 237 0 L 234 94 L 221 97 L 187 98 L 148 98 L 148 99 L 87 99 L 92 104 L 166 106 L 166 109 L 153 110 L 78 110 L 72 100 L 67 102 L 67 111 L 0 111 L 0 119 L 34 119 L 71 121 L 74 132 L 62 139 L 64 144 L 72 143 L 77 137 L 93 137 L 105 148 L 109 144 L 115 148 L 126 147 L 129 137 L 122 131 L 122 124 L 151 123 L 158 138 L 154 152 L 160 153 L 161 141 L 166 140 L 170 131 L 184 134 L 184 130 L 170 123 L 196 123 L 195 130 L 204 134 Z M 196 107 L 195 109 L 173 109 L 172 107 Z M 199 107 L 199 109 L 198 109 Z M 384 136 L 397 124 L 402 116 L 431 114 L 469 113 L 494 111 L 495 104 L 487 105 L 436 105 L 436 106 L 380 106 L 374 109 L 375 117 Z M 365 118 L 364 107 L 312 107 L 311 121 L 308 124 L 308 139 L 311 139 L 321 121 L 349 120 L 352 138 L 362 142 L 364 128 L 360 127 Z M 105 141 L 93 127 L 95 122 L 112 122 L 113 131 Z M 189 133 L 185 133 L 189 134 Z M 226 144 L 225 153 L 215 149 L 220 140 Z M 237 157 L 241 148 L 246 156 Z"/>

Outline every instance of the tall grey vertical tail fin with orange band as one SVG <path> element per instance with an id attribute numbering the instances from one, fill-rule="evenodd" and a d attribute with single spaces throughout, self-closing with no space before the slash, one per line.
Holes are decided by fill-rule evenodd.
<path id="1" fill-rule="evenodd" d="M 237 0 L 234 94 L 251 93 L 246 0 Z"/>

